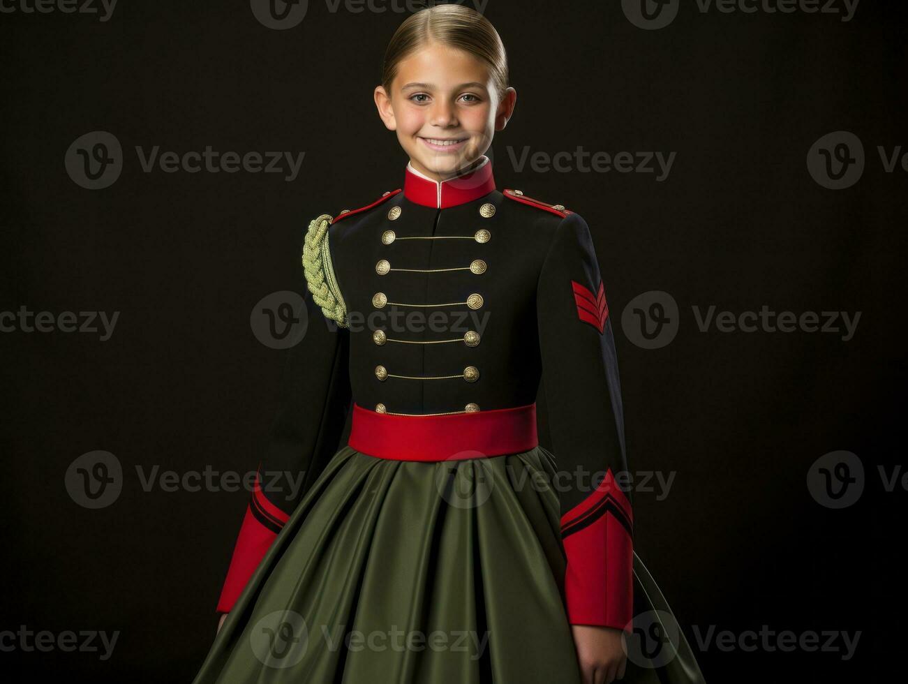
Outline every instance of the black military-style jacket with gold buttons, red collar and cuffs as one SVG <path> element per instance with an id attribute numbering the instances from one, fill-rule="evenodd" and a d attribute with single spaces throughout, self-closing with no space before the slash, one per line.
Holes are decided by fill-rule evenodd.
<path id="1" fill-rule="evenodd" d="M 403 188 L 311 222 L 309 327 L 288 352 L 281 411 L 217 610 L 229 611 L 271 541 L 340 448 L 350 404 L 400 415 L 536 401 L 558 463 L 571 624 L 631 619 L 632 511 L 617 359 L 587 223 L 559 204 L 499 192 L 492 164 Z M 303 486 L 280 473 L 302 473 Z M 293 491 L 293 495 L 284 495 Z"/>

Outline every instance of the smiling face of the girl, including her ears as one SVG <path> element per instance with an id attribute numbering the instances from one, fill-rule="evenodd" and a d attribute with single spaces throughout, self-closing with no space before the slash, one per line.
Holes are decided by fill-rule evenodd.
<path id="1" fill-rule="evenodd" d="M 489 149 L 508 123 L 517 93 L 499 99 L 484 62 L 463 50 L 430 43 L 398 64 L 391 92 L 375 89 L 375 104 L 420 173 L 443 181 Z"/>

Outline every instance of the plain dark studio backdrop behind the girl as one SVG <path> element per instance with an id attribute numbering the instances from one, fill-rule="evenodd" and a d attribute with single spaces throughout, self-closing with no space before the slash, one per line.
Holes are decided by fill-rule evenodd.
<path id="1" fill-rule="evenodd" d="M 826 2 L 826 0 L 824 0 Z M 908 146 L 902 3 L 840 15 L 702 13 L 643 30 L 618 2 L 490 0 L 518 91 L 492 151 L 499 188 L 584 216 L 616 326 L 632 470 L 675 471 L 670 495 L 635 491 L 635 540 L 707 681 L 871 679 L 903 659 L 892 557 L 904 463 L 906 173 L 877 153 Z M 394 5 L 380 5 L 393 7 Z M 400 7 L 400 5 L 398 5 Z M 841 6 L 841 3 L 836 3 Z M 19 7 L 19 5 L 15 5 Z M 253 305 L 300 290 L 300 245 L 319 213 L 400 187 L 407 158 L 371 91 L 394 11 L 311 2 L 272 30 L 250 3 L 127 2 L 97 15 L 0 14 L 3 292 L 0 310 L 120 312 L 113 336 L 23 332 L 3 344 L 4 590 L 0 630 L 120 630 L 113 657 L 14 649 L 0 668 L 69 681 L 189 681 L 246 491 L 144 491 L 149 471 L 254 471 L 277 411 L 284 352 L 252 334 Z M 64 156 L 114 134 L 123 172 L 80 187 Z M 861 180 L 814 182 L 825 134 L 864 143 Z M 162 152 L 305 152 L 300 175 L 144 173 Z M 676 152 L 649 173 L 537 173 L 519 154 Z M 902 154 L 908 152 L 903 147 Z M 620 314 L 674 297 L 673 342 L 632 343 Z M 700 332 L 692 307 L 862 312 L 854 338 Z M 123 491 L 88 510 L 64 487 L 95 450 Z M 830 451 L 864 464 L 847 508 L 814 501 Z M 890 617 L 887 617 L 890 616 Z M 694 628 L 862 632 L 841 653 L 696 647 Z M 841 640 L 836 643 L 841 646 Z"/>

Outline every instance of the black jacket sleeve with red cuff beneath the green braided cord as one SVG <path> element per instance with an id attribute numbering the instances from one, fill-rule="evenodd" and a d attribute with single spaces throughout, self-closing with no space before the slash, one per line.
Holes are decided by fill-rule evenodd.
<path id="1" fill-rule="evenodd" d="M 339 305 L 321 268 L 313 265 L 321 265 L 321 250 L 330 259 L 327 223 L 321 223 L 321 234 L 313 240 L 315 223 L 310 224 L 303 250 L 308 324 L 301 341 L 285 352 L 280 409 L 256 469 L 255 486 L 218 600 L 220 612 L 232 609 L 271 542 L 338 450 L 350 408 L 349 329 L 345 316 L 338 315 Z M 306 257 L 313 252 L 316 258 L 307 264 Z"/>

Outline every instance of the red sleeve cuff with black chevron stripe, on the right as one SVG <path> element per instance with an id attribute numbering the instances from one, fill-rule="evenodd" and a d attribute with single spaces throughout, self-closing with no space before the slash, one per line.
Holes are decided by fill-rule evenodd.
<path id="1" fill-rule="evenodd" d="M 630 502 L 612 471 L 587 499 L 561 517 L 568 557 L 565 600 L 572 625 L 630 631 L 634 553 Z"/>

